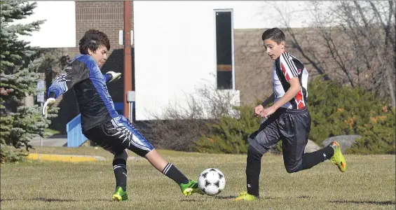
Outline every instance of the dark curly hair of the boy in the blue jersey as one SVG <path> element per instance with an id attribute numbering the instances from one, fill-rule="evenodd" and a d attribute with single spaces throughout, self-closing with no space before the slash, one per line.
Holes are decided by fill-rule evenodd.
<path id="1" fill-rule="evenodd" d="M 110 50 L 110 41 L 109 38 L 107 38 L 107 35 L 102 31 L 95 29 L 89 29 L 86 31 L 86 34 L 84 34 L 83 38 L 80 39 L 78 45 L 80 45 L 80 53 L 83 55 L 88 55 L 88 49 L 95 52 L 100 45 L 103 45 L 107 50 Z"/>

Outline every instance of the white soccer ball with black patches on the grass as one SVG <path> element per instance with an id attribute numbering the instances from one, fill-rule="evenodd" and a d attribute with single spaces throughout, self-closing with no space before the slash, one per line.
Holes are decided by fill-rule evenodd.
<path id="1" fill-rule="evenodd" d="M 224 190 L 226 178 L 219 169 L 205 169 L 198 177 L 198 186 L 206 195 L 217 195 Z"/>

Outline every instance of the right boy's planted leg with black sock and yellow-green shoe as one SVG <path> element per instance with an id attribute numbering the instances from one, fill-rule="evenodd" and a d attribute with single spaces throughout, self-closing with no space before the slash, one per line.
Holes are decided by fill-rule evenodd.
<path id="1" fill-rule="evenodd" d="M 261 158 L 264 153 L 273 148 L 279 141 L 278 117 L 274 113 L 270 118 L 264 119 L 259 130 L 250 135 L 250 143 L 246 158 L 246 186 L 247 192 L 242 192 L 235 200 L 256 200 L 259 197 L 259 179 L 261 172 Z"/>

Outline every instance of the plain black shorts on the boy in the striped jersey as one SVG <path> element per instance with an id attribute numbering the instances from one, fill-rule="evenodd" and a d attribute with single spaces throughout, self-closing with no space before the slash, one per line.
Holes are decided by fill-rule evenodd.
<path id="1" fill-rule="evenodd" d="M 261 154 L 282 139 L 283 161 L 287 169 L 301 166 L 302 157 L 310 132 L 310 113 L 303 109 L 280 108 L 264 120 L 259 130 L 250 135 L 250 145 Z"/>

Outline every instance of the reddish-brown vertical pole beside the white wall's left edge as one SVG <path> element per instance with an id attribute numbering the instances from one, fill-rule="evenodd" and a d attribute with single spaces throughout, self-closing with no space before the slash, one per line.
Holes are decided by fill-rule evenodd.
<path id="1" fill-rule="evenodd" d="M 131 1 L 124 1 L 124 116 L 128 118 L 130 109 L 128 109 L 127 95 L 132 91 L 132 46 L 130 25 L 132 22 Z"/>

